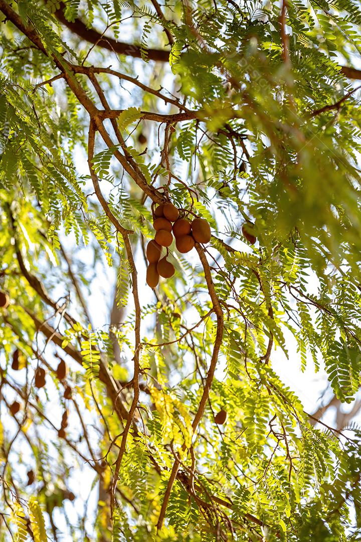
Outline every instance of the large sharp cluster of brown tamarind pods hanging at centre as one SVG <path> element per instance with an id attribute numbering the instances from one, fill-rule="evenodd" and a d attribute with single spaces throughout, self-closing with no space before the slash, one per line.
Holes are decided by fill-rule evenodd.
<path id="1" fill-rule="evenodd" d="M 211 241 L 211 227 L 204 218 L 194 218 L 189 222 L 179 216 L 179 210 L 173 203 L 163 203 L 154 211 L 153 227 L 155 236 L 147 245 L 146 255 L 149 265 L 147 267 L 147 284 L 155 288 L 159 277 L 170 279 L 174 275 L 173 263 L 168 262 L 168 247 L 175 237 L 175 247 L 181 254 L 186 254 L 195 243 L 208 243 Z M 162 249 L 167 249 L 166 256 L 161 258 Z"/>

